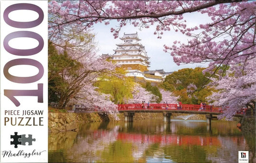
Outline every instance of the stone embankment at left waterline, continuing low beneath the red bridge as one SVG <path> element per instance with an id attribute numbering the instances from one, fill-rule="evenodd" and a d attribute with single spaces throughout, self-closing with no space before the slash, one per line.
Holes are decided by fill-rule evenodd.
<path id="1" fill-rule="evenodd" d="M 124 120 L 123 114 L 118 114 L 120 120 Z M 186 115 L 173 113 L 171 118 L 173 119 L 187 119 L 194 120 L 205 120 L 205 115 Z M 162 113 L 136 113 L 134 120 L 138 119 L 152 119 L 152 118 L 163 118 Z M 78 130 L 78 123 L 83 122 L 100 122 L 100 121 L 114 121 L 114 117 L 107 114 L 99 113 L 61 113 L 61 112 L 49 112 L 48 114 L 48 127 L 49 132 L 60 132 L 60 131 L 75 131 Z"/>

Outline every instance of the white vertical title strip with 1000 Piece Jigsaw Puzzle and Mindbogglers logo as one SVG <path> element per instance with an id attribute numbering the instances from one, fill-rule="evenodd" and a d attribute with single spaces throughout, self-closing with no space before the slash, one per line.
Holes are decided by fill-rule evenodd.
<path id="1" fill-rule="evenodd" d="M 0 1 L 0 162 L 48 162 L 48 1 Z"/>

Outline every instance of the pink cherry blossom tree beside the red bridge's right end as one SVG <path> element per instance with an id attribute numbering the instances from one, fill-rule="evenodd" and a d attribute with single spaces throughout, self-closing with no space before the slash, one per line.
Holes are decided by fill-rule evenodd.
<path id="1" fill-rule="evenodd" d="M 221 73 L 220 73 L 221 74 Z M 219 79 L 212 78 L 214 88 L 208 96 L 212 105 L 227 108 L 221 117 L 232 119 L 232 116 L 241 108 L 255 109 L 256 102 L 256 58 L 248 60 L 248 64 L 232 65 L 225 76 L 219 75 Z"/>

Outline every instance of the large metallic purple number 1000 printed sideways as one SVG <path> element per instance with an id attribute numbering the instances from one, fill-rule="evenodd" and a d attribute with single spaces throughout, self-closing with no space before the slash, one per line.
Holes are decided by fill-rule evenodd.
<path id="1" fill-rule="evenodd" d="M 16 10 L 31 10 L 35 11 L 38 13 L 39 17 L 37 20 L 31 21 L 31 22 L 17 22 L 13 21 L 9 18 L 9 13 L 16 11 Z M 33 28 L 42 23 L 44 19 L 44 12 L 40 7 L 34 4 L 30 3 L 17 3 L 13 4 L 5 9 L 3 12 L 3 19 L 5 23 L 8 25 L 15 27 L 15 28 Z M 29 37 L 29 38 L 34 38 L 38 41 L 38 46 L 35 48 L 31 49 L 15 49 L 9 46 L 9 41 L 13 38 L 19 38 L 19 37 Z M 4 49 L 9 52 L 12 55 L 15 56 L 32 56 L 37 53 L 39 53 L 43 47 L 44 47 L 44 40 L 43 38 L 38 35 L 35 32 L 31 31 L 15 31 L 12 32 L 4 37 L 3 40 L 3 47 Z M 34 75 L 34 76 L 29 76 L 29 77 L 17 77 L 13 76 L 9 73 L 9 69 L 13 66 L 18 66 L 18 65 L 30 65 L 30 66 L 35 66 L 39 70 L 39 72 Z M 10 60 L 4 65 L 3 68 L 3 73 L 6 79 L 8 79 L 11 82 L 15 83 L 32 83 L 32 82 L 37 82 L 43 77 L 44 74 L 44 67 L 43 65 L 31 58 L 17 58 Z M 14 96 L 37 96 L 37 102 L 38 103 L 43 103 L 43 83 L 38 83 L 37 84 L 37 90 L 7 90 L 4 89 L 4 95 L 7 96 L 12 103 L 15 106 L 19 106 L 20 102 L 14 97 Z"/>

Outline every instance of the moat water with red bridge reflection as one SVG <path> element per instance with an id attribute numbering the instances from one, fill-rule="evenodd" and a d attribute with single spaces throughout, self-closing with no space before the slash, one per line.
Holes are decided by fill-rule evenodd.
<path id="1" fill-rule="evenodd" d="M 239 151 L 255 161 L 255 137 L 232 121 L 81 123 L 78 132 L 49 133 L 49 162 L 58 163 L 238 163 Z"/>

